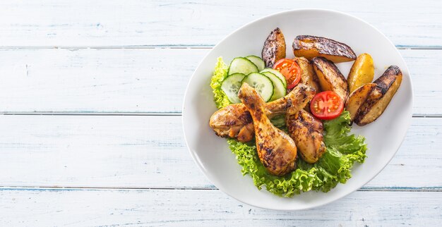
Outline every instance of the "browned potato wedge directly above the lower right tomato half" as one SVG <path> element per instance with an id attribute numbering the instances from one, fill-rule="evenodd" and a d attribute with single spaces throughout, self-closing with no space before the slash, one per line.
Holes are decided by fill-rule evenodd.
<path id="1" fill-rule="evenodd" d="M 318 76 L 321 90 L 336 92 L 345 103 L 348 97 L 348 84 L 338 67 L 323 57 L 316 57 L 311 62 Z"/>

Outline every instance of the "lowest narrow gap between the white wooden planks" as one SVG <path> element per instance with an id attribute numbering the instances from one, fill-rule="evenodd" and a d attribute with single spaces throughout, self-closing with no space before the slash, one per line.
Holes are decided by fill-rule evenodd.
<path id="1" fill-rule="evenodd" d="M 181 187 L 181 188 L 140 188 L 140 187 L 37 187 L 37 186 L 1 186 L 0 190 L 219 190 L 215 186 L 210 187 Z M 263 189 L 264 190 L 264 189 Z M 382 187 L 382 188 L 359 188 L 360 192 L 442 192 L 442 187 Z"/>

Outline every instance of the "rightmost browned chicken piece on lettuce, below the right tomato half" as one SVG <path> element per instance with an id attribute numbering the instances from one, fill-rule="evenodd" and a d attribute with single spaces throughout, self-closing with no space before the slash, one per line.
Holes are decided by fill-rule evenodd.
<path id="1" fill-rule="evenodd" d="M 289 135 L 296 142 L 301 158 L 311 164 L 318 161 L 325 152 L 321 120 L 301 110 L 297 114 L 287 114 L 285 121 Z"/>

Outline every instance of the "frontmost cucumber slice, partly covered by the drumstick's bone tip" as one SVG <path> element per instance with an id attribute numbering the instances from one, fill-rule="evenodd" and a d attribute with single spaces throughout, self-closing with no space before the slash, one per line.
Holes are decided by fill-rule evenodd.
<path id="1" fill-rule="evenodd" d="M 250 73 L 242 82 L 246 82 L 261 94 L 265 102 L 268 102 L 273 95 L 273 82 L 261 73 Z"/>

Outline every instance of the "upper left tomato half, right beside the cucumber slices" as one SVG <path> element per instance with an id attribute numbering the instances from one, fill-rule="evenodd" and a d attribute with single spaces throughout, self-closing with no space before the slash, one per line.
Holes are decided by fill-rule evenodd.
<path id="1" fill-rule="evenodd" d="M 292 59 L 280 59 L 273 68 L 284 75 L 288 89 L 292 89 L 301 80 L 301 67 Z"/>

